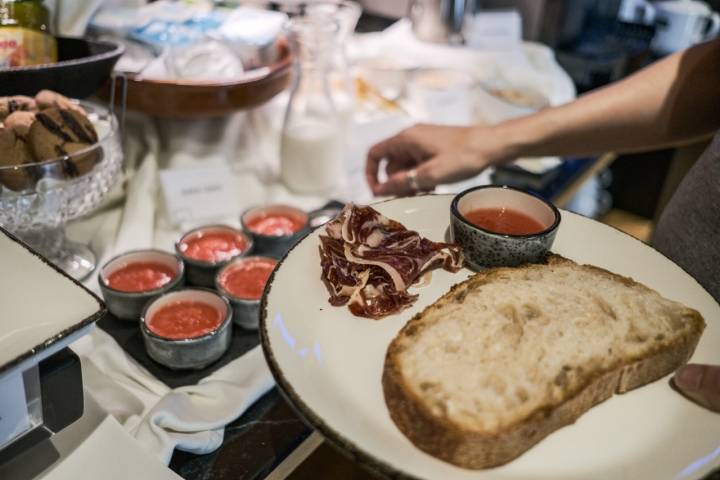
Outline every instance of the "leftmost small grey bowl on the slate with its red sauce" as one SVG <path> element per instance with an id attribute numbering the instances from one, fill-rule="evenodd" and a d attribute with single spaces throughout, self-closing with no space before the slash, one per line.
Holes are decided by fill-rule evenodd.
<path id="1" fill-rule="evenodd" d="M 108 310 L 121 320 L 138 321 L 145 305 L 184 282 L 185 266 L 162 250 L 135 250 L 109 260 L 98 274 Z"/>

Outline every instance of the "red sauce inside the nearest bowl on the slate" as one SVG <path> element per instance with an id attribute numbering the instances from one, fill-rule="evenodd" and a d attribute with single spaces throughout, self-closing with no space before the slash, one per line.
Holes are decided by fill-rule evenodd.
<path id="1" fill-rule="evenodd" d="M 207 335 L 222 321 L 222 313 L 212 305 L 186 300 L 160 307 L 146 325 L 157 336 L 182 340 Z"/>

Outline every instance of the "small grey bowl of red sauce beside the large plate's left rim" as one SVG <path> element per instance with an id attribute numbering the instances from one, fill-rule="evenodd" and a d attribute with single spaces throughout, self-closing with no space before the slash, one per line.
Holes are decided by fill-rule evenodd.
<path id="1" fill-rule="evenodd" d="M 248 281 L 245 286 L 257 291 L 241 293 L 233 290 L 232 281 L 242 281 L 253 264 L 260 263 L 265 268 L 259 270 L 260 279 Z M 267 279 L 277 266 L 277 260 L 271 257 L 244 257 L 232 261 L 223 267 L 215 279 L 215 288 L 228 299 L 233 309 L 233 322 L 247 330 L 257 330 L 260 316 L 260 299 Z M 257 270 L 256 270 L 257 271 Z"/>

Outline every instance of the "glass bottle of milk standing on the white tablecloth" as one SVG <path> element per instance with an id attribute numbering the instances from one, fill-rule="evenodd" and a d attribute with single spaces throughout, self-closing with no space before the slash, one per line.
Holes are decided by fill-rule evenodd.
<path id="1" fill-rule="evenodd" d="M 343 122 L 328 82 L 338 23 L 327 17 L 295 17 L 286 29 L 295 63 L 281 136 L 280 176 L 295 192 L 331 193 L 343 172 Z"/>

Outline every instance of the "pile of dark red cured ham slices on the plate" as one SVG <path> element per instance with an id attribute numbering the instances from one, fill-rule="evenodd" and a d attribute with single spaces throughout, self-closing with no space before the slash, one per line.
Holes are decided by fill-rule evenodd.
<path id="1" fill-rule="evenodd" d="M 462 267 L 460 247 L 431 242 L 372 207 L 348 204 L 320 235 L 322 279 L 330 304 L 379 319 L 412 305 L 408 287 L 436 268 Z"/>

